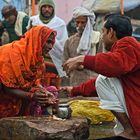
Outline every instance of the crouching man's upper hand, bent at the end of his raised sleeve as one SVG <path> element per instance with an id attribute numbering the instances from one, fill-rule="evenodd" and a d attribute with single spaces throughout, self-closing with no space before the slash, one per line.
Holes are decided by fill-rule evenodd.
<path id="1" fill-rule="evenodd" d="M 84 66 L 82 65 L 82 63 L 84 62 L 84 58 L 85 56 L 80 55 L 80 56 L 68 59 L 63 64 L 63 68 L 66 71 L 66 73 L 69 75 L 69 73 L 72 70 L 75 70 L 75 69 L 82 70 L 84 68 Z"/>

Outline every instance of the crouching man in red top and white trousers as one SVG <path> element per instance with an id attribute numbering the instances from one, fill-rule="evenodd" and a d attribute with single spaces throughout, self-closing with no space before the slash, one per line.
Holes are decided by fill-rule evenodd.
<path id="1" fill-rule="evenodd" d="M 119 135 L 140 139 L 140 43 L 131 37 L 132 25 L 126 16 L 109 16 L 102 31 L 108 52 L 81 55 L 64 63 L 67 73 L 84 67 L 99 76 L 67 90 L 72 96 L 94 96 L 97 92 L 101 107 L 111 110 L 122 124 L 124 130 Z"/>

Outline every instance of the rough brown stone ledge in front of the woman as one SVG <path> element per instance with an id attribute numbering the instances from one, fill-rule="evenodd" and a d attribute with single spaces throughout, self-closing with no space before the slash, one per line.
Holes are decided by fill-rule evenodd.
<path id="1" fill-rule="evenodd" d="M 86 140 L 89 123 L 85 118 L 54 120 L 50 117 L 0 119 L 2 140 Z"/>

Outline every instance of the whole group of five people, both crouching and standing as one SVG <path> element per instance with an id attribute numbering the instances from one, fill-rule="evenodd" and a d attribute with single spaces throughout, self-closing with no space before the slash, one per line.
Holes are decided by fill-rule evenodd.
<path id="1" fill-rule="evenodd" d="M 118 135 L 139 139 L 140 43 L 132 37 L 130 18 L 109 14 L 100 33 L 93 30 L 95 14 L 76 7 L 76 32 L 68 37 L 55 7 L 53 0 L 40 0 L 32 17 L 13 5 L 2 8 L 0 118 L 44 115 L 44 108 L 58 104 L 62 90 L 70 97 L 98 97 L 100 107 L 117 118 Z M 64 77 L 70 82 L 62 87 Z"/>

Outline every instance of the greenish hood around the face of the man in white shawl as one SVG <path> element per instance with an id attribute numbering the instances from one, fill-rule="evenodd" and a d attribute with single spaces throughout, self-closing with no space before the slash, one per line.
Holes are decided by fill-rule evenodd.
<path id="1" fill-rule="evenodd" d="M 42 14 L 41 14 L 41 7 L 43 6 L 43 5 L 50 5 L 50 6 L 52 6 L 53 7 L 53 14 L 52 14 L 52 16 L 51 17 L 49 17 L 49 18 L 46 18 L 46 17 L 44 17 Z M 45 24 L 47 24 L 48 22 L 50 22 L 50 20 L 54 17 L 54 15 L 55 15 L 55 3 L 54 3 L 54 1 L 53 0 L 41 0 L 40 2 L 39 2 L 39 11 L 40 11 L 40 13 L 39 13 L 39 18 L 40 18 L 40 20 L 43 22 L 43 23 L 45 23 Z"/>

